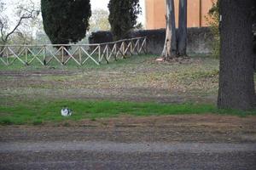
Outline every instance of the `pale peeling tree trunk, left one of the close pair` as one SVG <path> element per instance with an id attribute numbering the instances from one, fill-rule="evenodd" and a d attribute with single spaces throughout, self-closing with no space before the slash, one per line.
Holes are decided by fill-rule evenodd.
<path id="1" fill-rule="evenodd" d="M 166 42 L 162 56 L 166 59 L 176 57 L 177 37 L 173 0 L 166 0 Z"/>

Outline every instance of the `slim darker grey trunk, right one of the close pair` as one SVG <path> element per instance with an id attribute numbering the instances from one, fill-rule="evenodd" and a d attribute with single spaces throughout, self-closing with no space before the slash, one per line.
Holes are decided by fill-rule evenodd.
<path id="1" fill-rule="evenodd" d="M 179 0 L 177 54 L 187 55 L 187 0 Z"/>

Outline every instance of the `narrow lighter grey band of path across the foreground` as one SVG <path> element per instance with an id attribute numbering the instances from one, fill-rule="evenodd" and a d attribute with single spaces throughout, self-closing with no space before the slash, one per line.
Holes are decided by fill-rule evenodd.
<path id="1" fill-rule="evenodd" d="M 123 152 L 135 153 L 140 152 L 182 152 L 187 153 L 226 153 L 232 151 L 256 152 L 256 144 L 224 144 L 224 143 L 115 143 L 115 142 L 37 142 L 37 143 L 2 143 L 0 153 L 13 152 L 47 152 L 47 151 L 95 151 L 95 152 Z"/>

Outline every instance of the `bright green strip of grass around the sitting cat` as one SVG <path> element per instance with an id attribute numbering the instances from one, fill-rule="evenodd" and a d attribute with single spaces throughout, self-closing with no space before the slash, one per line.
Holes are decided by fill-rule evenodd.
<path id="1" fill-rule="evenodd" d="M 61 108 L 73 110 L 73 116 L 62 117 Z M 41 125 L 45 122 L 80 121 L 83 119 L 130 116 L 167 116 L 183 114 L 222 114 L 234 116 L 256 116 L 256 111 L 218 110 L 214 105 L 157 103 L 135 103 L 116 101 L 32 101 L 19 105 L 0 105 L 0 124 L 2 125 Z"/>

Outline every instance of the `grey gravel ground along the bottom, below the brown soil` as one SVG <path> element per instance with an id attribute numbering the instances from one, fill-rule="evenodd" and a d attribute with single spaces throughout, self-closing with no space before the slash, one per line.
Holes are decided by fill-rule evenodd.
<path id="1" fill-rule="evenodd" d="M 20 146 L 19 146 L 20 145 Z M 8 150 L 8 147 L 12 147 Z M 1 169 L 255 169 L 256 144 L 3 144 Z M 2 150 L 4 148 L 4 150 Z"/>

